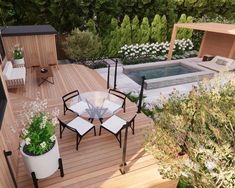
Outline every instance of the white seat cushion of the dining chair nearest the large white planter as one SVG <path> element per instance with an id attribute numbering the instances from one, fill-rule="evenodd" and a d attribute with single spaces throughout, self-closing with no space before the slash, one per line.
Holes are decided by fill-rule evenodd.
<path id="1" fill-rule="evenodd" d="M 91 124 L 90 122 L 88 122 L 80 117 L 76 117 L 75 119 L 70 121 L 67 125 L 69 127 L 76 129 L 76 131 L 81 136 L 83 136 L 87 131 L 89 131 L 92 127 L 94 127 L 93 124 Z"/>

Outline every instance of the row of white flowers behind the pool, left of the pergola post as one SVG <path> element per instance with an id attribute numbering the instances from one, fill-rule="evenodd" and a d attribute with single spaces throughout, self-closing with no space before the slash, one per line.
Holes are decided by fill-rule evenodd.
<path id="1" fill-rule="evenodd" d="M 169 42 L 165 43 L 146 43 L 146 44 L 135 44 L 135 45 L 124 45 L 121 47 L 119 54 L 124 58 L 140 58 L 140 57 L 157 57 L 166 55 L 169 49 Z"/>

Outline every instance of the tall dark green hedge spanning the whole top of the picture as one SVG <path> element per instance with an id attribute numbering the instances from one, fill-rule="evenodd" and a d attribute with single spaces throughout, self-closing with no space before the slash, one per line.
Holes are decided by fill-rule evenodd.
<path id="1" fill-rule="evenodd" d="M 96 19 L 101 35 L 113 17 L 125 15 L 139 19 L 166 15 L 169 29 L 183 13 L 193 17 L 221 15 L 235 18 L 234 0 L 4 0 L 0 1 L 0 25 L 52 24 L 60 32 L 84 29 L 89 19 Z"/>

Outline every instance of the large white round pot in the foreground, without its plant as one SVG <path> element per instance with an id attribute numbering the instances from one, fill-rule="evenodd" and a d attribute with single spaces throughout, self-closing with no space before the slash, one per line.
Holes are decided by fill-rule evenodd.
<path id="1" fill-rule="evenodd" d="M 25 166 L 27 168 L 28 174 L 31 176 L 32 172 L 35 172 L 37 179 L 46 178 L 55 173 L 59 168 L 59 147 L 57 139 L 55 141 L 54 147 L 47 153 L 39 156 L 30 156 L 24 153 L 23 147 L 25 143 L 23 142 L 20 147 L 21 154 Z"/>

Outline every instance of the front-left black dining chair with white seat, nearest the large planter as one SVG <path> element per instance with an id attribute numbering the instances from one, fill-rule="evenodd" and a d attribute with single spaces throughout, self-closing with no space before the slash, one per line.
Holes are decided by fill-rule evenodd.
<path id="1" fill-rule="evenodd" d="M 64 132 L 65 128 L 76 133 L 76 135 L 77 135 L 76 149 L 77 150 L 78 150 L 78 145 L 81 142 L 83 136 L 85 136 L 90 130 L 94 129 L 94 135 L 96 136 L 95 126 L 92 123 L 90 123 L 80 117 L 76 117 L 75 119 L 73 119 L 69 123 L 64 123 L 59 118 L 58 118 L 58 120 L 60 123 L 60 138 L 62 138 L 62 133 Z"/>

